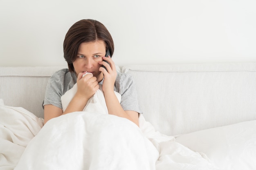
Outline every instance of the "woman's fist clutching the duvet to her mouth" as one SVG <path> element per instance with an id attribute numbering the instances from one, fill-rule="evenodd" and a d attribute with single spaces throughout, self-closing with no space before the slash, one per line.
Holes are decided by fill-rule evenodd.
<path id="1" fill-rule="evenodd" d="M 94 77 L 92 74 L 86 74 L 84 77 L 83 74 L 85 74 L 85 72 L 81 72 L 77 76 L 76 95 L 89 100 L 99 89 L 99 85 L 97 78 Z"/>

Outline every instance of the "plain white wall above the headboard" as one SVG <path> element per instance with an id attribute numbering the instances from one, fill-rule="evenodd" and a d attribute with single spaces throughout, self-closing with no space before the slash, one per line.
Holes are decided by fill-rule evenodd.
<path id="1" fill-rule="evenodd" d="M 65 34 L 87 18 L 117 65 L 256 62 L 255 0 L 0 0 L 0 65 L 66 65 Z"/>

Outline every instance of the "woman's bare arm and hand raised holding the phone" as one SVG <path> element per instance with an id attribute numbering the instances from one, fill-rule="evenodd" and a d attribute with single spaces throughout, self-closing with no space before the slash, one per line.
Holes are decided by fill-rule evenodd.
<path id="1" fill-rule="evenodd" d="M 104 74 L 102 90 L 105 96 L 108 113 L 122 118 L 127 118 L 139 126 L 139 113 L 136 111 L 124 111 L 117 99 L 117 96 L 115 95 L 114 85 L 117 77 L 115 63 L 110 57 L 103 57 L 103 59 L 110 63 L 108 64 L 104 61 L 100 62 L 100 64 L 103 64 L 108 70 L 100 68 L 100 71 Z"/>

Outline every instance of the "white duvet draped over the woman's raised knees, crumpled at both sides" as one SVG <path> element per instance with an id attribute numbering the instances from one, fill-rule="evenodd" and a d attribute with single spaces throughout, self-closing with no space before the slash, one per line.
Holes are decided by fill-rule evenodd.
<path id="1" fill-rule="evenodd" d="M 64 95 L 64 105 L 74 92 Z M 142 114 L 140 127 L 109 115 L 106 105 L 100 104 L 102 96 L 99 89 L 84 111 L 53 118 L 44 126 L 29 111 L 2 103 L 0 170 L 218 169 L 204 154 L 155 131 Z"/>

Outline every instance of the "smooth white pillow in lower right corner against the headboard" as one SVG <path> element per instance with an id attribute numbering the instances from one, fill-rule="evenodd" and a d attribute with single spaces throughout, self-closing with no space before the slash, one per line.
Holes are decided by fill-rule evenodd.
<path id="1" fill-rule="evenodd" d="M 256 120 L 181 135 L 176 142 L 205 153 L 225 170 L 256 167 Z"/>

